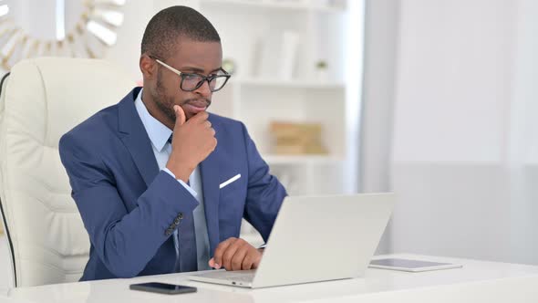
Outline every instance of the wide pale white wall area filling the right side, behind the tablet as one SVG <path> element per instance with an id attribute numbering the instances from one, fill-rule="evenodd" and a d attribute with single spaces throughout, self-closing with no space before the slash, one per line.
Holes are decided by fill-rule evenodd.
<path id="1" fill-rule="evenodd" d="M 392 250 L 538 264 L 538 4 L 399 9 Z"/>

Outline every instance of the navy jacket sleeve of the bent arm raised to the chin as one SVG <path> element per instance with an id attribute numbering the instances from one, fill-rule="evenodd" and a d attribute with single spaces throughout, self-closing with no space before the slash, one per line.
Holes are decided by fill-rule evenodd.
<path id="1" fill-rule="evenodd" d="M 67 133 L 59 143 L 72 197 L 105 266 L 117 277 L 135 277 L 168 239 L 167 230 L 179 214 L 191 215 L 198 202 L 160 171 L 138 198 L 138 207 L 128 213 L 112 170 L 100 159 L 103 147 L 79 137 Z"/>

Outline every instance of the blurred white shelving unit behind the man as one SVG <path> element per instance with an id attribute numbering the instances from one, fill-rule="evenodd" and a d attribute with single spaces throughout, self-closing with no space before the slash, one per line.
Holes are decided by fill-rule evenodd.
<path id="1" fill-rule="evenodd" d="M 350 159 L 357 157 L 347 146 L 357 142 L 349 142 L 347 120 L 346 0 L 160 1 L 191 5 L 217 28 L 223 58 L 233 60 L 235 71 L 213 95 L 210 111 L 243 121 L 288 193 L 345 193 L 346 182 L 357 183 L 357 176 L 346 174 Z M 286 53 L 289 37 L 295 52 Z M 285 54 L 295 54 L 292 68 L 285 68 Z M 316 69 L 320 60 L 326 62 L 323 73 Z M 328 153 L 275 154 L 272 121 L 321 123 Z M 250 225 L 242 232 L 251 243 L 261 242 Z"/>

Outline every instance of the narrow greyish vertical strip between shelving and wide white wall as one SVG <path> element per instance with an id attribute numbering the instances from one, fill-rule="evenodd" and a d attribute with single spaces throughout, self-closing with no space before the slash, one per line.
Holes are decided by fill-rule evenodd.
<path id="1" fill-rule="evenodd" d="M 368 0 L 365 16 L 365 58 L 360 112 L 359 184 L 361 193 L 388 192 L 390 146 L 397 56 L 398 2 Z M 390 227 L 378 254 L 390 250 Z"/>

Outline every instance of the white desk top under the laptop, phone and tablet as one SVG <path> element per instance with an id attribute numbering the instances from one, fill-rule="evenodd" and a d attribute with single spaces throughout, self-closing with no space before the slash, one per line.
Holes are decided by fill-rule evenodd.
<path id="1" fill-rule="evenodd" d="M 185 279 L 171 274 L 132 279 L 57 284 L 12 289 L 5 302 L 538 302 L 538 266 L 433 256 L 462 268 L 406 273 L 367 269 L 366 277 L 288 287 L 245 289 Z M 380 257 L 380 256 L 378 256 Z M 129 290 L 129 284 L 158 281 L 198 287 L 195 294 L 160 295 Z M 0 302 L 4 303 L 0 297 Z"/>

